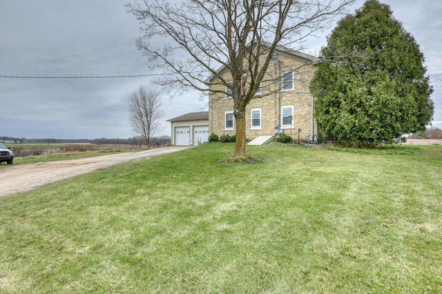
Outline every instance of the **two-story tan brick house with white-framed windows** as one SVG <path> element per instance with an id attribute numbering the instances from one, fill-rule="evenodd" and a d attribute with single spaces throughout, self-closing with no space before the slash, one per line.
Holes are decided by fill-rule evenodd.
<path id="1" fill-rule="evenodd" d="M 314 96 L 309 91 L 309 83 L 317 61 L 317 57 L 309 54 L 282 47 L 276 49 L 258 90 L 258 94 L 268 95 L 251 100 L 247 106 L 247 140 L 258 136 L 276 138 L 279 134 L 287 134 L 294 140 L 314 138 L 317 133 Z M 228 74 L 226 72 L 226 76 Z M 226 87 L 224 92 L 229 93 L 229 89 Z M 220 92 L 209 95 L 209 133 L 233 135 L 235 125 L 233 99 Z"/>

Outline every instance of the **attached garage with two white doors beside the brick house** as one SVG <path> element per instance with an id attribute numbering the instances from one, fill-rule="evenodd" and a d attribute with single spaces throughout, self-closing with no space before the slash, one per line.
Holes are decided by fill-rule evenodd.
<path id="1" fill-rule="evenodd" d="M 172 145 L 199 145 L 209 141 L 209 112 L 190 112 L 167 120 L 171 123 Z"/>

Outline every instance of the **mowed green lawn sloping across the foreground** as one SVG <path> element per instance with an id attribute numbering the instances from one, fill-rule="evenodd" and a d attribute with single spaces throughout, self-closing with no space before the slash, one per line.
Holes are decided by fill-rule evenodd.
<path id="1" fill-rule="evenodd" d="M 442 293 L 442 147 L 416 148 L 206 144 L 0 199 L 0 293 Z"/>

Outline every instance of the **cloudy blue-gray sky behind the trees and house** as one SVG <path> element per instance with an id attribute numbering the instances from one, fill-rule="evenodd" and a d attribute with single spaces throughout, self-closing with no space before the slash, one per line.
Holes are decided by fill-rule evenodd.
<path id="1" fill-rule="evenodd" d="M 383 0 L 425 55 L 434 87 L 434 122 L 442 127 L 442 1 Z M 0 1 L 0 76 L 124 76 L 152 74 L 135 47 L 138 21 L 126 1 Z M 356 1 L 350 12 L 363 5 Z M 309 52 L 325 45 L 311 39 Z M 170 100 L 152 76 L 126 78 L 1 78 L 0 136 L 128 138 L 128 98 L 140 85 L 159 90 L 167 119 L 204 109 L 198 92 Z"/>

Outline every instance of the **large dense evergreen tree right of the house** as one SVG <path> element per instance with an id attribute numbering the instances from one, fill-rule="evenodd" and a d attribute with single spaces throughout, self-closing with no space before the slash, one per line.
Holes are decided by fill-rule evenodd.
<path id="1" fill-rule="evenodd" d="M 311 83 L 318 130 L 353 145 L 425 130 L 434 106 L 424 57 L 390 6 L 368 0 L 340 20 Z"/>

